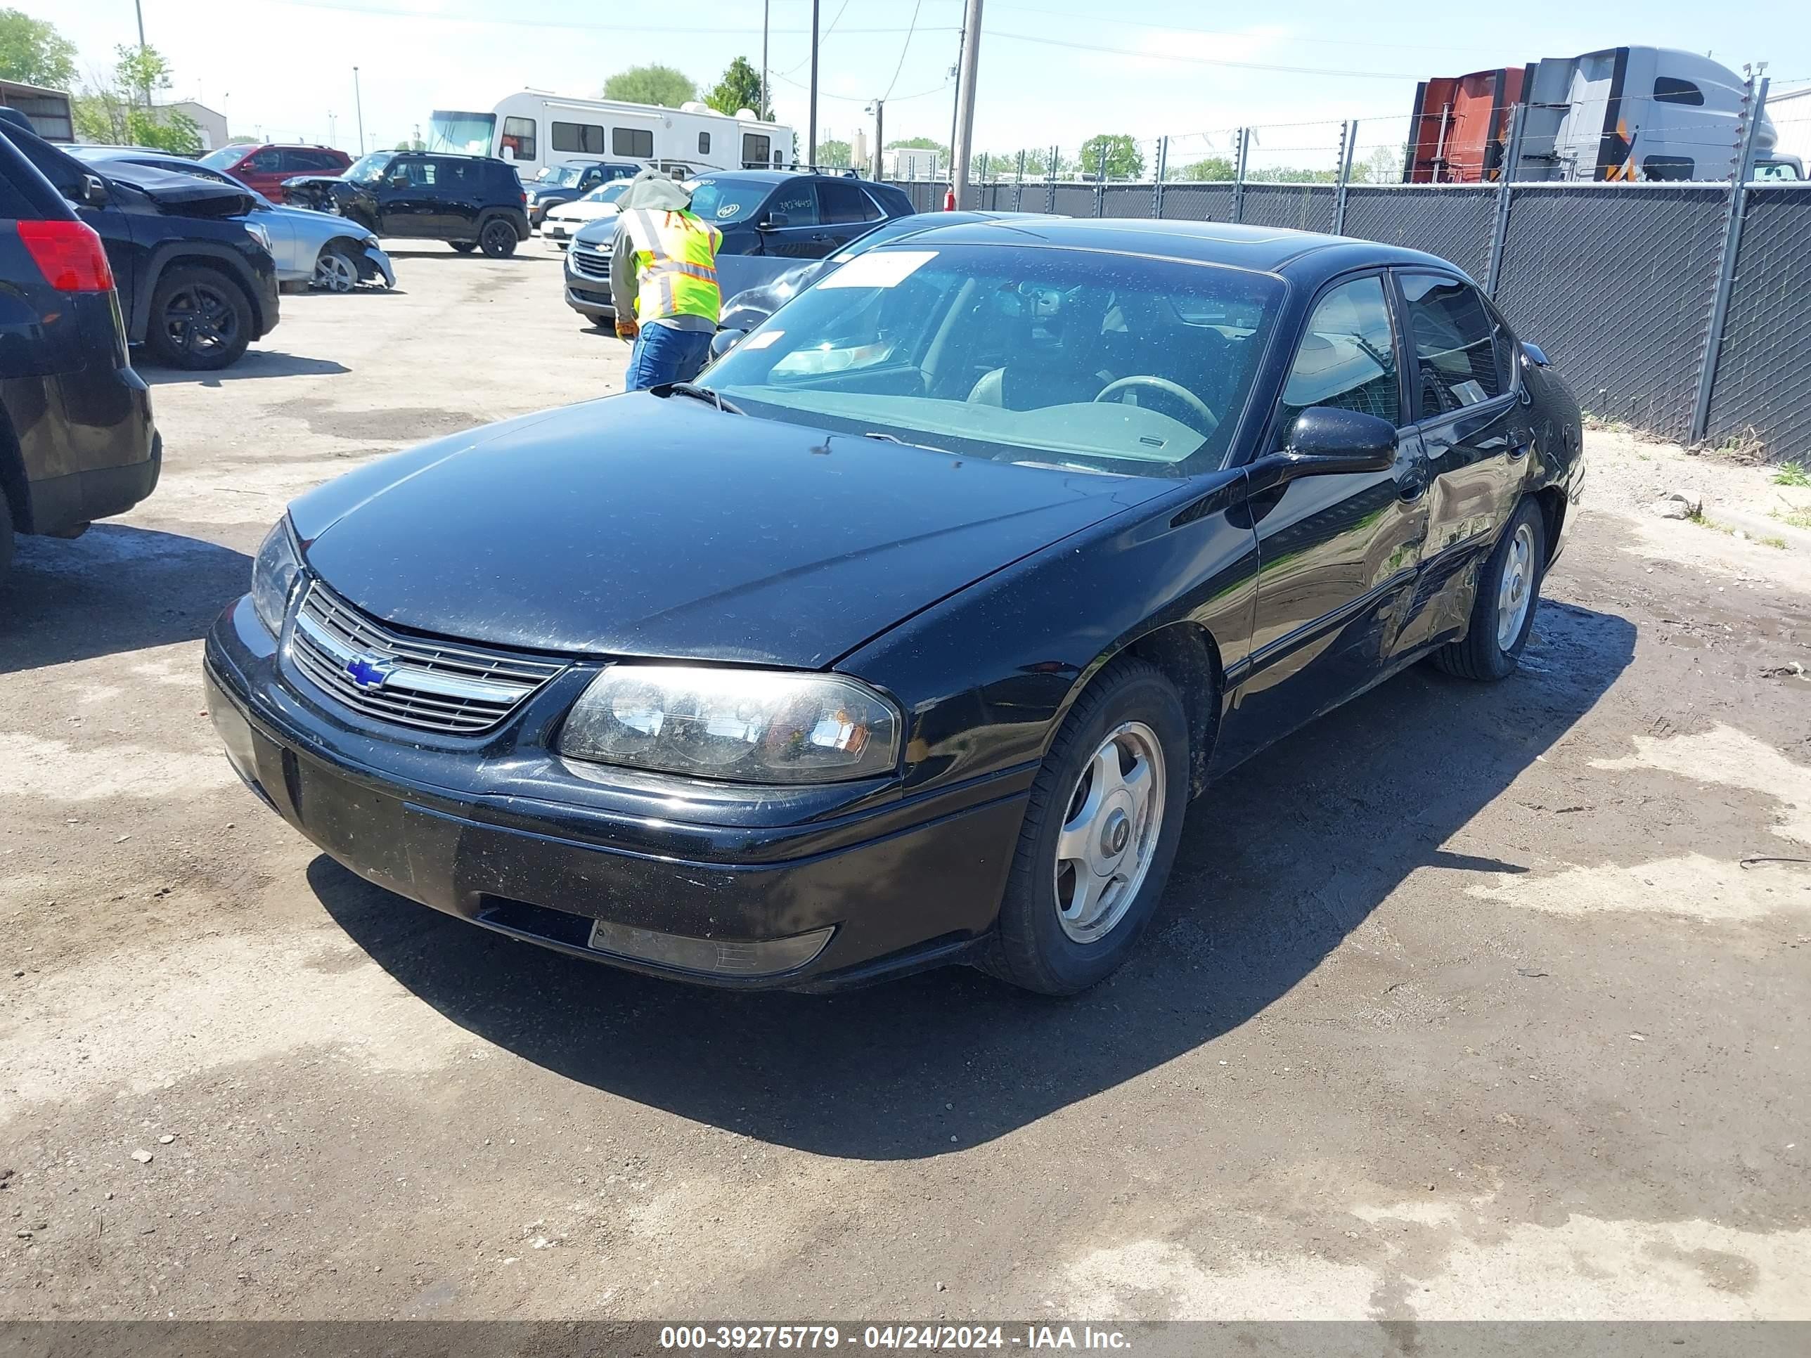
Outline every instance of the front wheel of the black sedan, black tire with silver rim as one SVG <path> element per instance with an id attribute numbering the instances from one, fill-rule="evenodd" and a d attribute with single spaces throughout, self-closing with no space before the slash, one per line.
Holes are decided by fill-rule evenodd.
<path id="1" fill-rule="evenodd" d="M 1103 799 L 1108 757 L 1123 784 Z M 1117 971 L 1170 880 L 1186 804 L 1188 715 L 1175 684 L 1146 661 L 1114 661 L 1043 757 L 982 969 L 1052 996 Z M 1090 856 L 1063 856 L 1070 849 Z M 1088 891 L 1083 871 L 1101 864 Z"/>

